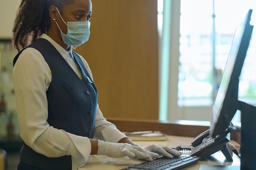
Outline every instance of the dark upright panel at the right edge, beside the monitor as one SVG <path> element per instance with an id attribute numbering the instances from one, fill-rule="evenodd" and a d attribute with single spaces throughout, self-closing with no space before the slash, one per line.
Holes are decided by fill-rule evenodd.
<path id="1" fill-rule="evenodd" d="M 240 170 L 255 170 L 256 107 L 240 102 L 241 111 L 241 166 Z"/>

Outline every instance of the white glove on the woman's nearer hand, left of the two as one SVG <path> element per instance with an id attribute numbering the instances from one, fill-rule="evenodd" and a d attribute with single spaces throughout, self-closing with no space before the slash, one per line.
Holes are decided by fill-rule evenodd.
<path id="1" fill-rule="evenodd" d="M 132 146 L 127 143 L 112 143 L 98 140 L 97 155 L 107 155 L 109 157 L 124 157 L 128 156 L 135 159 L 146 159 L 152 161 L 152 157 L 140 146 Z"/>

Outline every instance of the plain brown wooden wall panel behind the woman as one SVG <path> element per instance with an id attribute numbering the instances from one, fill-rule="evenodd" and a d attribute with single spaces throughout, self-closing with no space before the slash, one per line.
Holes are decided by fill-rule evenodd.
<path id="1" fill-rule="evenodd" d="M 92 0 L 89 63 L 105 117 L 158 119 L 157 0 Z"/>

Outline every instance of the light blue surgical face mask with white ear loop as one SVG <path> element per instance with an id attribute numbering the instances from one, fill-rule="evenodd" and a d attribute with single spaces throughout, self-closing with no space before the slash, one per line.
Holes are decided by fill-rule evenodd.
<path id="1" fill-rule="evenodd" d="M 56 7 L 57 9 L 57 7 Z M 58 9 L 57 9 L 58 11 Z M 60 12 L 58 11 L 59 15 L 61 16 Z M 63 20 L 63 18 L 61 17 Z M 54 20 L 56 22 L 56 20 Z M 66 24 L 66 22 L 63 20 Z M 57 26 L 58 23 L 56 22 Z M 82 21 L 82 22 L 67 22 L 67 34 L 64 34 L 61 31 L 61 28 L 58 28 L 61 31 L 61 38 L 63 42 L 67 45 L 71 46 L 79 46 L 89 40 L 90 36 L 90 25 L 89 21 Z"/>

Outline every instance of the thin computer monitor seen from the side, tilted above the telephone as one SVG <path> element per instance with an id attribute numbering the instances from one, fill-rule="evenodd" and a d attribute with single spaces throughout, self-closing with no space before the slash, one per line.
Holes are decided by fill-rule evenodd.
<path id="1" fill-rule="evenodd" d="M 210 136 L 225 137 L 232 118 L 239 108 L 239 77 L 251 39 L 253 26 L 250 25 L 252 9 L 249 9 L 245 20 L 236 28 L 229 56 L 222 75 L 220 87 L 213 104 L 210 119 Z"/>

